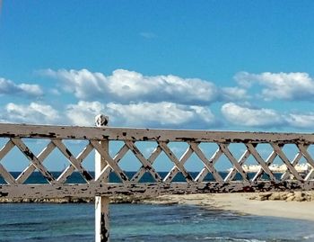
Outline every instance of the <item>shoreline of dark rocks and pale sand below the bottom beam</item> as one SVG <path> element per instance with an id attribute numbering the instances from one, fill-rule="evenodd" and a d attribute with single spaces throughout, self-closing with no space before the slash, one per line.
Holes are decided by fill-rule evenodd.
<path id="1" fill-rule="evenodd" d="M 63 199 L 4 199 L 0 203 L 85 203 L 93 198 Z M 210 193 L 162 195 L 155 198 L 138 196 L 116 196 L 110 203 L 140 204 L 185 204 L 202 206 L 209 210 L 234 211 L 240 214 L 272 216 L 287 219 L 314 221 L 314 192 L 274 192 L 274 193 Z"/>

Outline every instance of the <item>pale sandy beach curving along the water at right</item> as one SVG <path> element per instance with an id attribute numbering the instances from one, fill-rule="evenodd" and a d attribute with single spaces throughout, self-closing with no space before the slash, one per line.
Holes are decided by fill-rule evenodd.
<path id="1" fill-rule="evenodd" d="M 255 196 L 254 193 L 165 195 L 150 202 L 191 204 L 240 214 L 314 221 L 313 199 L 310 202 L 252 200 Z"/>

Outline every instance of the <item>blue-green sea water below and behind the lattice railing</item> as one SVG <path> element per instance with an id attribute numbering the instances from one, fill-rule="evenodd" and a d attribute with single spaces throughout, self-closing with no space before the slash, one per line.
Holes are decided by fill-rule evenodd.
<path id="1" fill-rule="evenodd" d="M 314 222 L 306 220 L 191 205 L 110 204 L 109 211 L 110 241 L 314 241 Z M 0 241 L 94 241 L 94 204 L 2 203 Z"/>

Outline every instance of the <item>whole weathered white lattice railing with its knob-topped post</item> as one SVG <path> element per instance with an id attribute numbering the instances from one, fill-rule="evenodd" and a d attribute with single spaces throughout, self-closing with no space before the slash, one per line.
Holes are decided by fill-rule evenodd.
<path id="1" fill-rule="evenodd" d="M 95 241 L 109 241 L 109 196 L 188 193 L 243 193 L 268 191 L 310 191 L 314 190 L 314 160 L 309 152 L 314 145 L 314 134 L 307 133 L 270 133 L 270 132 L 235 132 L 212 130 L 151 130 L 108 127 L 108 117 L 100 115 L 97 127 L 47 126 L 25 124 L 0 124 L 0 139 L 4 146 L 0 149 L 0 176 L 5 184 L 0 184 L 0 197 L 5 198 L 65 198 L 95 197 Z M 48 145 L 39 154 L 29 148 L 24 139 L 48 139 Z M 87 145 L 77 156 L 65 146 L 63 141 L 87 141 Z M 122 142 L 122 147 L 115 156 L 110 156 L 109 147 L 114 142 Z M 144 156 L 138 143 L 150 142 L 155 148 L 149 156 Z M 187 149 L 177 157 L 171 150 L 170 143 L 184 143 Z M 210 143 L 217 147 L 211 156 L 207 156 L 201 144 Z M 231 152 L 231 144 L 242 144 L 240 158 Z M 268 157 L 258 153 L 257 146 L 267 144 L 271 150 Z M 295 157 L 289 158 L 283 148 L 293 145 L 297 149 Z M 14 177 L 2 164 L 2 159 L 13 148 L 17 148 L 29 160 L 20 175 Z M 55 177 L 45 166 L 44 161 L 57 149 L 68 161 L 68 166 Z M 95 152 L 95 175 L 83 166 L 83 161 Z M 135 175 L 129 177 L 119 162 L 131 152 L 140 163 Z M 167 175 L 161 175 L 154 167 L 155 160 L 161 154 L 172 164 Z M 185 166 L 188 160 L 196 156 L 203 168 L 197 175 Z M 221 157 L 231 164 L 228 174 L 222 177 L 217 170 Z M 246 162 L 249 157 L 257 163 L 254 175 L 249 175 Z M 275 175 L 275 159 L 280 159 L 285 167 L 283 174 Z M 298 168 L 301 160 L 302 166 Z M 131 161 L 130 161 L 131 162 Z M 47 184 L 25 184 L 32 173 L 39 172 Z M 66 183 L 74 172 L 84 180 L 82 184 Z M 109 175 L 114 174 L 119 182 L 111 182 Z M 141 182 L 145 175 L 151 175 L 153 181 Z M 176 175 L 184 177 L 183 182 L 176 182 Z M 205 177 L 211 175 L 213 181 Z M 236 179 L 236 176 L 238 178 Z M 239 178 L 240 177 L 240 178 Z"/>

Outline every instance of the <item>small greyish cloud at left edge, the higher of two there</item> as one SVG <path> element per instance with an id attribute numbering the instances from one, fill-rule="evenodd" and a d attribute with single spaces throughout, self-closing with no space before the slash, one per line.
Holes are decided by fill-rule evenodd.
<path id="1" fill-rule="evenodd" d="M 44 94 L 39 85 L 14 84 L 13 81 L 0 77 L 0 94 L 41 96 Z"/>

